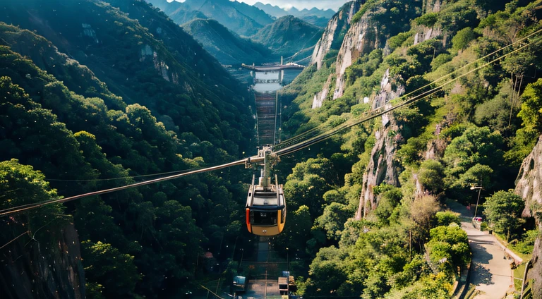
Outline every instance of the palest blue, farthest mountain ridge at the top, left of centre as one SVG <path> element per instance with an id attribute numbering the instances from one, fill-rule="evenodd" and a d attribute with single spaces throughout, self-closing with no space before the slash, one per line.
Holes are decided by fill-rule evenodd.
<path id="1" fill-rule="evenodd" d="M 182 3 L 177 1 L 167 3 L 166 0 L 147 1 L 161 8 L 179 25 L 188 22 L 190 19 L 187 15 L 195 16 L 195 13 L 191 12 L 197 11 L 198 14 L 201 13 L 207 18 L 217 20 L 237 35 L 246 37 L 273 22 L 271 16 L 264 11 L 243 2 L 229 0 L 186 0 Z"/>

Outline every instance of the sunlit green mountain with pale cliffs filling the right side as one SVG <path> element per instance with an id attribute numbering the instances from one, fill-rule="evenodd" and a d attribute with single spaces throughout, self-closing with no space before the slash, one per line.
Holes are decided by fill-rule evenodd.
<path id="1" fill-rule="evenodd" d="M 330 20 L 314 64 L 280 96 L 285 138 L 341 128 L 449 84 L 278 166 L 290 212 L 275 246 L 301 258 L 291 269 L 304 274 L 303 297 L 450 298 L 470 253 L 445 205 L 476 203 L 470 187 L 483 188 L 478 215 L 485 209 L 495 233 L 540 256 L 541 195 L 529 187 L 540 177 L 532 170 L 540 146 L 523 160 L 542 134 L 541 7 L 353 1 Z M 517 195 L 510 189 L 522 162 Z M 518 205 L 522 196 L 528 204 Z M 534 298 L 542 298 L 541 269 L 536 262 L 529 271 Z"/>

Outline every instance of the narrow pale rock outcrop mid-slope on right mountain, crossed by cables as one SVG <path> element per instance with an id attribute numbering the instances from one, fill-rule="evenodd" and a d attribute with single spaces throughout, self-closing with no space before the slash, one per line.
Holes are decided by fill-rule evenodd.
<path id="1" fill-rule="evenodd" d="M 402 86 L 397 90 L 392 90 L 389 71 L 386 71 L 382 82 L 380 83 L 380 92 L 373 97 L 371 106 L 376 109 L 381 106 L 387 106 L 390 100 L 399 97 L 404 92 Z M 382 116 L 382 127 L 375 132 L 375 146 L 371 151 L 371 159 L 365 173 L 363 174 L 363 185 L 359 197 L 359 207 L 356 213 L 356 220 L 366 216 L 371 209 L 378 206 L 378 197 L 373 193 L 373 187 L 381 183 L 398 185 L 398 173 L 396 171 L 397 163 L 395 161 L 395 152 L 397 143 L 402 136 L 397 133 L 399 126 L 390 112 Z M 397 133 L 397 134 L 396 134 Z"/>

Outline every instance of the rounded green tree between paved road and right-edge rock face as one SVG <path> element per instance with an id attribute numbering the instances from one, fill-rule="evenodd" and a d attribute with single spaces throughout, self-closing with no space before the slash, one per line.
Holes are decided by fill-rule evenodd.
<path id="1" fill-rule="evenodd" d="M 488 216 L 490 224 L 498 233 L 506 233 L 506 240 L 510 240 L 511 234 L 524 224 L 521 218 L 525 202 L 523 198 L 513 190 L 500 190 L 486 197 L 483 203 L 484 212 Z"/>

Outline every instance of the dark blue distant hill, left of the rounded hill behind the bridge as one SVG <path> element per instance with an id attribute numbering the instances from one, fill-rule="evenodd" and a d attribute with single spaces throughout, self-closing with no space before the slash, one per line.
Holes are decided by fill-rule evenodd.
<path id="1" fill-rule="evenodd" d="M 271 54 L 267 47 L 239 37 L 216 20 L 196 19 L 184 24 L 183 28 L 224 65 L 239 67 L 241 63 L 261 63 Z"/>

